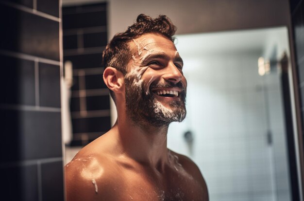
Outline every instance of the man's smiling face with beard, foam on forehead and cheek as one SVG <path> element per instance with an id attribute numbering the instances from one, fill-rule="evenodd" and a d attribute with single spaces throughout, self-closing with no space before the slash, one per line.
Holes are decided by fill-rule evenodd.
<path id="1" fill-rule="evenodd" d="M 186 117 L 183 60 L 166 37 L 145 34 L 129 43 L 133 52 L 125 76 L 127 114 L 153 126 Z"/>

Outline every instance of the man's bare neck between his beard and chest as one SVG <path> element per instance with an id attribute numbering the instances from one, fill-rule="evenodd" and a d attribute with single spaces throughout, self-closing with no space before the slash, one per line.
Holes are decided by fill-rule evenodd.
<path id="1" fill-rule="evenodd" d="M 151 167 L 161 168 L 168 161 L 168 126 L 136 124 L 130 119 L 117 121 L 118 146 L 127 157 Z"/>

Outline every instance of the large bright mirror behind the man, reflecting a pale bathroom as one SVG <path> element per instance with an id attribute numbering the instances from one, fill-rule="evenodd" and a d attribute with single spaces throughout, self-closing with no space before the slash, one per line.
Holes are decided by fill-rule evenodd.
<path id="1" fill-rule="evenodd" d="M 287 28 L 180 35 L 176 47 L 187 116 L 169 126 L 168 147 L 197 163 L 211 201 L 290 201 Z"/>

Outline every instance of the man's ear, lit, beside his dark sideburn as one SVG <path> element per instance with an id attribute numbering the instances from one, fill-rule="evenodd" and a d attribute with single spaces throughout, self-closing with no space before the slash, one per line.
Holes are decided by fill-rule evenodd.
<path id="1" fill-rule="evenodd" d="M 124 91 L 124 75 L 116 68 L 107 67 L 104 69 L 103 81 L 110 90 L 116 93 Z"/>

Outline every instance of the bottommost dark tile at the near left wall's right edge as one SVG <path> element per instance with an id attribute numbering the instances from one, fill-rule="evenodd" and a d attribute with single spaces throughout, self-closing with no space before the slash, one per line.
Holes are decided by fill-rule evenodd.
<path id="1" fill-rule="evenodd" d="M 62 166 L 62 161 L 41 164 L 42 201 L 63 201 Z"/>

